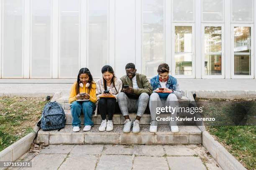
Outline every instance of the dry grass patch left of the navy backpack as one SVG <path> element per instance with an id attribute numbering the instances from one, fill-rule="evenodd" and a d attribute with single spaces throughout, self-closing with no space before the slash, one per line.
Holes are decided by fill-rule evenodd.
<path id="1" fill-rule="evenodd" d="M 33 132 L 46 102 L 44 98 L 0 97 L 0 151 Z"/>

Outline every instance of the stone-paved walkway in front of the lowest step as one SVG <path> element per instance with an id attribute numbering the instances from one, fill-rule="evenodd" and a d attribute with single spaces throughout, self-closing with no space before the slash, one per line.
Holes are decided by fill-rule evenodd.
<path id="1" fill-rule="evenodd" d="M 221 170 L 202 145 L 49 145 L 20 160 L 32 160 L 22 170 Z"/>

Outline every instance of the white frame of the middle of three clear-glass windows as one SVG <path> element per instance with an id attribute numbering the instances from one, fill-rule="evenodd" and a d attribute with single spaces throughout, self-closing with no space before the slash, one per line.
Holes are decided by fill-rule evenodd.
<path id="1" fill-rule="evenodd" d="M 201 69 L 202 78 L 225 78 L 225 24 L 203 23 L 201 27 Z M 205 75 L 205 27 L 221 27 L 221 75 Z"/>

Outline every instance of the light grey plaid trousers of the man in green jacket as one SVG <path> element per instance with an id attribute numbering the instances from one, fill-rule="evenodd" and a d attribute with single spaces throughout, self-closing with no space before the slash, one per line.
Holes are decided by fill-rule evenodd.
<path id="1" fill-rule="evenodd" d="M 146 92 L 141 93 L 138 99 L 127 97 L 124 92 L 118 94 L 118 105 L 123 116 L 129 115 L 129 112 L 137 112 L 137 116 L 142 117 L 148 105 L 149 95 Z"/>

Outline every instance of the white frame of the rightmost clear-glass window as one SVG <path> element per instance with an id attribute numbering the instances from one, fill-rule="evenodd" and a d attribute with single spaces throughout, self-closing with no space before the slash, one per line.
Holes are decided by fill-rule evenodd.
<path id="1" fill-rule="evenodd" d="M 231 79 L 253 79 L 254 78 L 254 24 L 231 24 Z M 235 52 L 234 52 L 234 28 L 251 27 L 251 75 L 235 75 Z"/>

